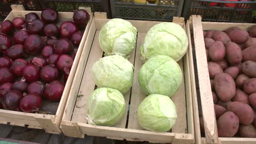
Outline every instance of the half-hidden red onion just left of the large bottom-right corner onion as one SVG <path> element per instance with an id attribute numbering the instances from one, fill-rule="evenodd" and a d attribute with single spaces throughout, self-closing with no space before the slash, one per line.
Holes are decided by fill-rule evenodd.
<path id="1" fill-rule="evenodd" d="M 26 91 L 29 94 L 30 93 L 36 93 L 36 94 L 42 96 L 43 95 L 43 88 L 44 88 L 44 86 L 43 86 L 42 82 L 36 81 L 36 82 L 31 82 L 28 85 Z"/>

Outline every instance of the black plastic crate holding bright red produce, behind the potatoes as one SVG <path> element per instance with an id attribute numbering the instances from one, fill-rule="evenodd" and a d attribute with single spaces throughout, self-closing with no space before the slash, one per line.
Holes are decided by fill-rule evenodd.
<path id="1" fill-rule="evenodd" d="M 217 4 L 216 4 L 217 3 Z M 202 21 L 253 23 L 256 1 L 185 0 L 182 16 L 200 15 Z"/>

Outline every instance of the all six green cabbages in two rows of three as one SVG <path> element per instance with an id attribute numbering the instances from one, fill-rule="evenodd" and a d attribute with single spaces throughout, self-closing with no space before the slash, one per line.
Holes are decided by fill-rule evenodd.
<path id="1" fill-rule="evenodd" d="M 97 89 L 87 104 L 89 124 L 113 126 L 125 114 L 125 95 L 133 84 L 134 66 L 130 57 L 137 41 L 137 29 L 123 19 L 109 20 L 99 33 L 99 45 L 105 56 L 92 66 Z M 138 107 L 138 123 L 144 130 L 167 132 L 177 119 L 171 97 L 179 89 L 183 73 L 177 63 L 187 52 L 184 29 L 175 23 L 159 23 L 144 38 L 139 53 L 144 65 L 138 83 L 148 95 Z"/>

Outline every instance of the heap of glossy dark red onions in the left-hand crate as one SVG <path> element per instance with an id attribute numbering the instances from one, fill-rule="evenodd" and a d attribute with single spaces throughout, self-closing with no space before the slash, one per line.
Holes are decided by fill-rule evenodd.
<path id="1" fill-rule="evenodd" d="M 59 13 L 46 8 L 0 25 L 0 108 L 34 113 L 60 101 L 89 18 L 75 10 L 75 23 L 59 26 Z"/>

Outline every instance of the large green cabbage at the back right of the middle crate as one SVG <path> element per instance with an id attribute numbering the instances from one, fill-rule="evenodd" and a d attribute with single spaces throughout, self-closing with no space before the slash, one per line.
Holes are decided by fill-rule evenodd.
<path id="1" fill-rule="evenodd" d="M 187 52 L 188 39 L 185 30 L 176 23 L 159 23 L 151 27 L 140 47 L 143 62 L 157 55 L 166 55 L 179 61 Z"/>

